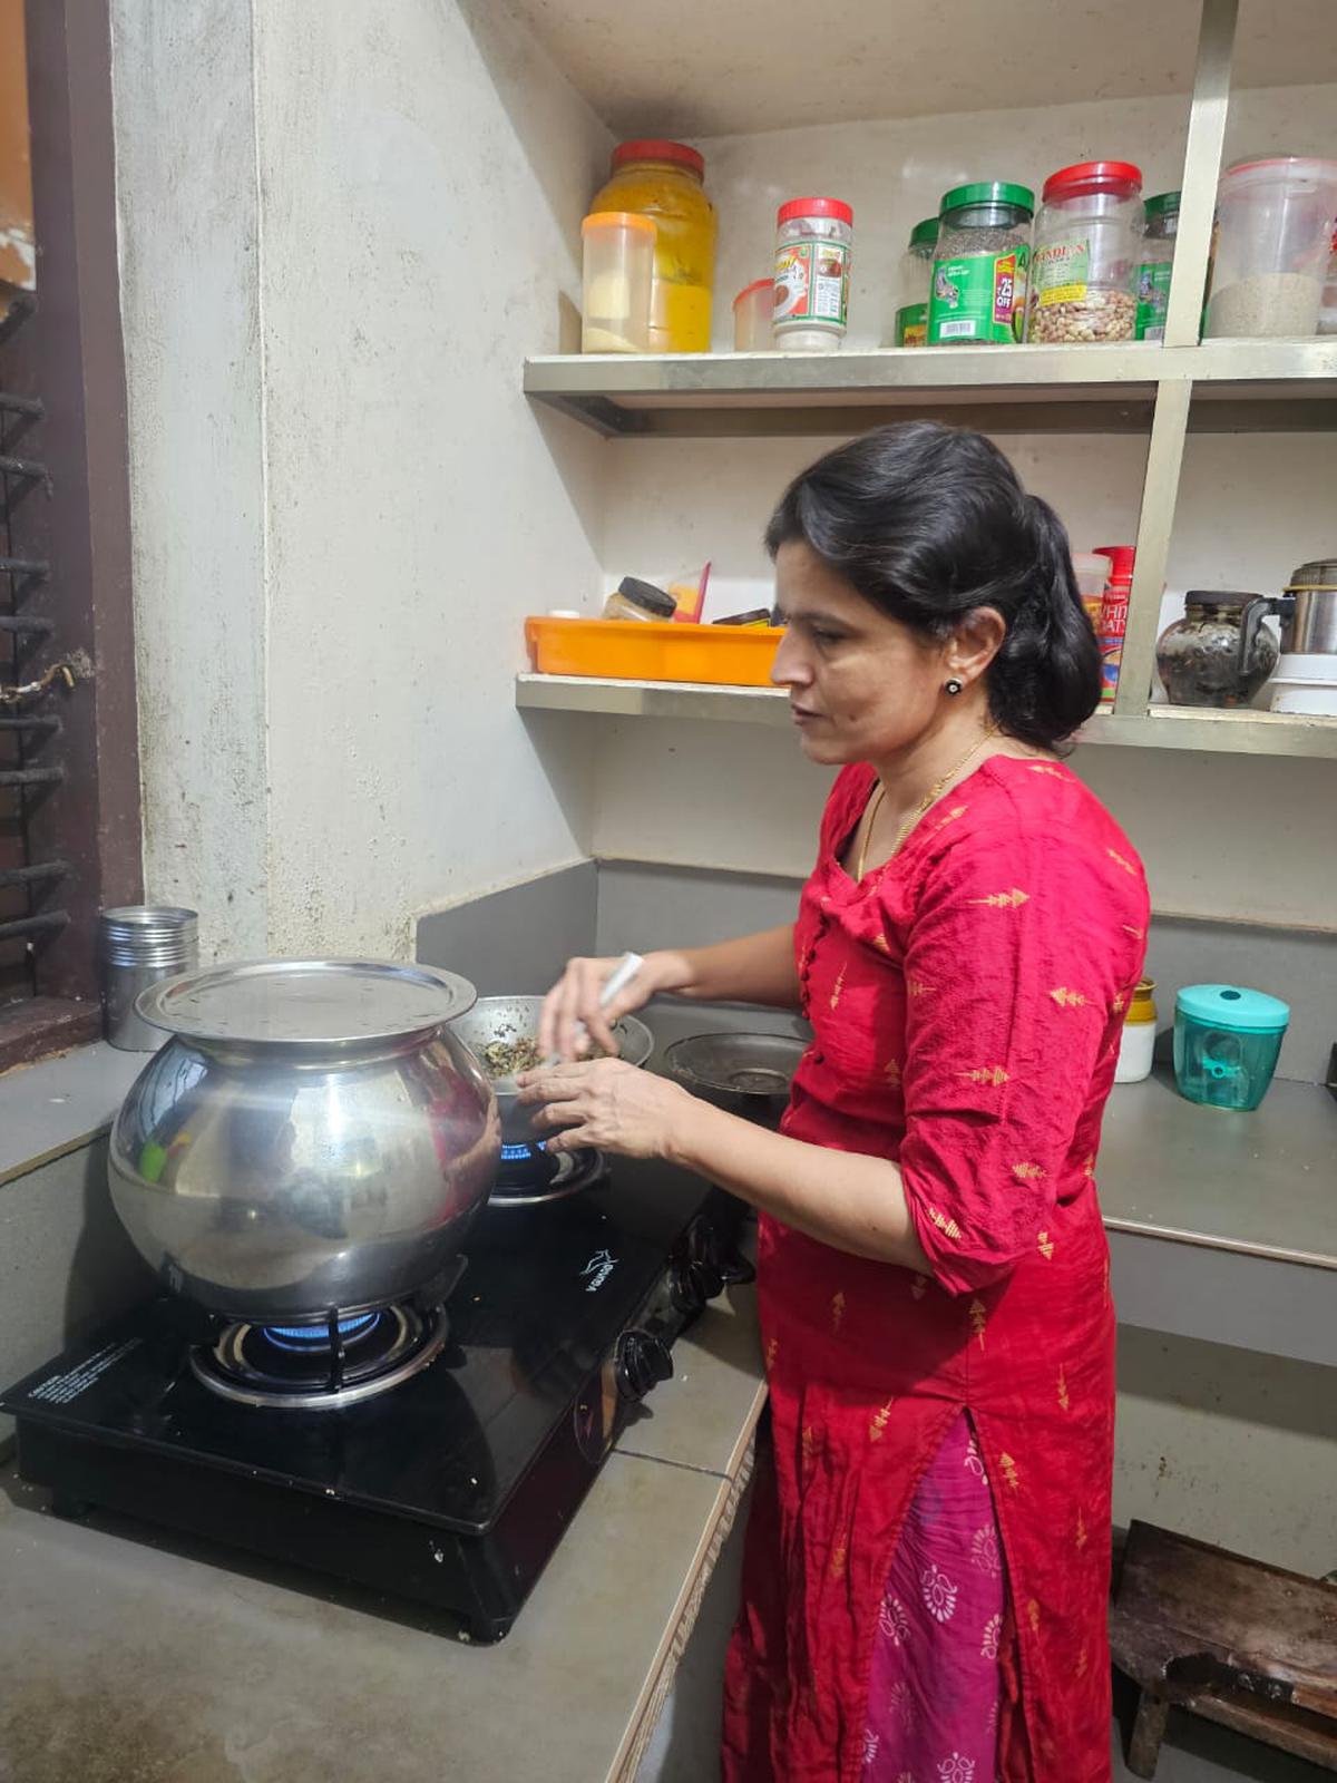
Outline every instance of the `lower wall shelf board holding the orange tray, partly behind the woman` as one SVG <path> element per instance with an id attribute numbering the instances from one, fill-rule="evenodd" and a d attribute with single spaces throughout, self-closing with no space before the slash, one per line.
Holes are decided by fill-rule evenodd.
<path id="1" fill-rule="evenodd" d="M 790 726 L 788 699 L 779 688 L 770 686 L 521 674 L 515 679 L 515 704 L 522 711 L 583 711 L 615 719 L 724 719 L 786 729 Z M 1152 706 L 1143 713 L 1100 713 L 1080 733 L 1079 744 L 1337 760 L 1337 719 Z"/>

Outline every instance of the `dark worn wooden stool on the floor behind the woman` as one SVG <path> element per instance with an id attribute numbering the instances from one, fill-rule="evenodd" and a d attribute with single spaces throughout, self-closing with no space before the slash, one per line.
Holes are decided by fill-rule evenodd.
<path id="1" fill-rule="evenodd" d="M 1134 1776 L 1155 1776 L 1171 1706 L 1337 1771 L 1337 1585 L 1134 1523 L 1109 1637 L 1141 1685 Z"/>

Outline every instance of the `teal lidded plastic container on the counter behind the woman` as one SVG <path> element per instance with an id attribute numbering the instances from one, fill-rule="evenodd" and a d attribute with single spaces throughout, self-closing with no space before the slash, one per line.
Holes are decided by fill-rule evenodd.
<path id="1" fill-rule="evenodd" d="M 1216 1109 L 1255 1109 L 1267 1095 L 1291 1006 L 1237 984 L 1185 984 L 1175 1000 L 1180 1095 Z"/>

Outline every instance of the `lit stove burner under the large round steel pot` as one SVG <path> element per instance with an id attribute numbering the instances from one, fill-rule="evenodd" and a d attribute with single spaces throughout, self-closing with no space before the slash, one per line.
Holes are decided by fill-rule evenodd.
<path id="1" fill-rule="evenodd" d="M 191 1371 L 239 1405 L 330 1410 L 389 1393 L 426 1368 L 447 1335 L 446 1314 L 381 1307 L 332 1325 L 228 1325 L 212 1348 L 191 1350 Z"/>

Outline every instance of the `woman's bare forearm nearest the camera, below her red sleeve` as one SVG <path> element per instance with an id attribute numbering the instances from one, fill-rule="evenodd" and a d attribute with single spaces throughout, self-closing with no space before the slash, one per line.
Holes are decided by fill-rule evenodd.
<path id="1" fill-rule="evenodd" d="M 668 1157 L 808 1237 L 932 1275 L 900 1171 L 884 1157 L 788 1139 L 706 1102 L 683 1111 Z"/>

